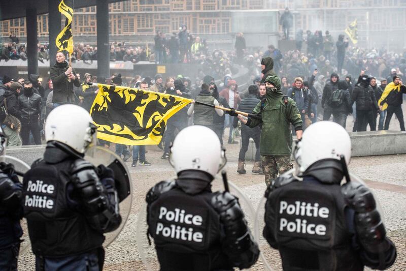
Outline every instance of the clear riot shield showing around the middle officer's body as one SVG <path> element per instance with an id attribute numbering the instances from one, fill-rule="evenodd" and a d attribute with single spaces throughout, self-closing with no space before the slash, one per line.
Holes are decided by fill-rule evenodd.
<path id="1" fill-rule="evenodd" d="M 245 218 L 248 222 L 248 226 L 254 235 L 254 208 L 244 193 L 235 186 L 232 182 L 228 182 L 230 193 L 239 198 L 239 203 L 244 211 Z M 224 191 L 221 176 L 218 175 L 212 182 L 212 191 Z M 158 257 L 155 251 L 154 239 L 147 235 L 147 203 L 144 201 L 138 214 L 137 221 L 137 246 L 140 253 L 140 257 L 147 268 L 147 270 L 159 270 Z M 255 236 L 254 236 L 255 238 Z"/>

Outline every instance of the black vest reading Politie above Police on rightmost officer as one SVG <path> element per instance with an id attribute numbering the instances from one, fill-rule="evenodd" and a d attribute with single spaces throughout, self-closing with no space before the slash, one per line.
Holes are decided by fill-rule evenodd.
<path id="1" fill-rule="evenodd" d="M 346 206 L 339 185 L 293 180 L 267 196 L 263 235 L 284 270 L 363 270 Z"/>

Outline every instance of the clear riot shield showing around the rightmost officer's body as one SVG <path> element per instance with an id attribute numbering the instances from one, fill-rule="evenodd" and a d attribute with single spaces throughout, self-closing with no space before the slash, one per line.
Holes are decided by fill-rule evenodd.
<path id="1" fill-rule="evenodd" d="M 284 174 L 288 174 L 288 173 L 295 173 L 295 168 L 287 171 Z M 298 178 L 300 179 L 300 178 Z M 363 180 L 358 177 L 357 175 L 353 174 L 350 172 L 350 179 L 351 182 L 357 182 L 357 183 L 361 183 L 362 185 L 364 185 L 365 187 L 368 187 Z M 341 182 L 342 184 L 346 183 L 346 178 L 343 177 L 343 180 Z M 372 191 L 372 190 L 371 190 Z M 374 193 L 373 193 L 374 194 Z M 374 195 L 376 204 L 377 204 L 377 208 L 381 214 L 381 219 L 383 221 L 382 218 L 382 209 L 381 209 L 381 205 L 379 204 L 378 198 Z M 265 270 L 277 270 L 282 268 L 281 266 L 281 262 L 280 262 L 280 255 L 279 255 L 279 251 L 276 249 L 273 249 L 269 246 L 269 244 L 266 242 L 266 239 L 263 237 L 262 234 L 262 230 L 265 226 L 265 222 L 264 222 L 264 216 L 265 216 L 265 203 L 266 203 L 266 198 L 262 197 L 260 202 L 258 203 L 256 212 L 255 212 L 255 226 L 254 226 L 254 233 L 255 233 L 255 239 L 259 240 L 259 246 L 261 248 L 261 260 L 265 266 Z M 272 262 L 271 262 L 272 261 Z M 278 264 L 278 267 L 276 266 L 276 264 Z"/>

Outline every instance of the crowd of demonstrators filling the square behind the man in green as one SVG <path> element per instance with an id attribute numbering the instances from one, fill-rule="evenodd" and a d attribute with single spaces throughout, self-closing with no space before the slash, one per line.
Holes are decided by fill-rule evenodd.
<path id="1" fill-rule="evenodd" d="M 252 102 L 254 98 L 258 101 L 266 100 L 265 80 L 269 76 L 275 75 L 280 76 L 280 91 L 283 97 L 291 98 L 297 105 L 303 129 L 317 122 L 318 116 L 319 119 L 332 119 L 346 127 L 347 116 L 353 114 L 355 119 L 353 131 L 365 131 L 368 125 L 370 130 L 376 130 L 378 115 L 380 116 L 378 129 L 382 130 L 389 128 L 391 117 L 395 114 L 400 122 L 400 129 L 404 130 L 401 103 L 405 87 L 402 85 L 401 78 L 396 79 L 396 76 L 401 77 L 405 72 L 406 61 L 403 57 L 406 56 L 388 53 L 384 49 L 352 48 L 344 36 L 340 36 L 339 40 L 334 43 L 331 35 L 328 32 L 325 34 L 323 36 L 321 31 L 317 31 L 315 34 L 308 32 L 307 38 L 296 41 L 296 45 L 300 45 L 300 48 L 285 53 L 275 48 L 274 45 L 269 45 L 264 52 L 249 51 L 245 48 L 242 33 L 236 36 L 235 50 L 210 51 L 205 43 L 200 41 L 200 38 L 188 33 L 187 27 L 182 27 L 179 33 L 174 33 L 168 40 L 164 34 L 157 33 L 155 45 L 159 47 L 162 44 L 162 53 L 156 46 L 153 48 L 153 52 L 150 52 L 146 48 L 131 48 L 124 43 L 112 44 L 112 61 L 125 58 L 126 61 L 137 62 L 141 60 L 140 55 L 145 52 L 145 57 L 148 55 L 157 63 L 200 64 L 201 69 L 194 79 L 183 75 L 162 76 L 162 74 L 151 74 L 144 78 L 136 75 L 130 79 L 122 78 L 120 74 L 113 74 L 110 78 L 97 78 L 88 73 L 83 74 L 81 78 L 72 67 L 67 65 L 65 55 L 58 53 L 56 64 L 51 68 L 50 79 L 44 86 L 36 75 L 31 75 L 26 79 L 27 83 L 32 83 L 33 94 L 41 97 L 41 110 L 29 112 L 25 117 L 16 116 L 21 123 L 21 135 L 24 134 L 23 144 L 30 140 L 25 136 L 30 133 L 33 141 L 38 142 L 38 132 L 32 127 L 37 127 L 37 119 L 38 126 L 41 127 L 43 116 L 56 106 L 75 103 L 88 111 L 98 91 L 97 87 L 89 86 L 88 82 L 131 87 L 142 86 L 143 89 L 150 91 L 194 98 L 197 101 L 201 100 L 231 109 L 241 108 L 248 112 L 246 103 Z M 296 35 L 296 37 L 298 36 L 300 35 Z M 304 42 L 308 45 L 307 52 L 300 51 Z M 41 47 L 40 45 L 40 52 Z M 43 48 L 47 50 L 46 46 Z M 75 47 L 73 58 L 83 61 L 92 60 L 96 53 L 97 48 L 79 44 Z M 134 54 L 138 56 L 134 56 Z M 40 55 L 44 59 L 47 57 L 43 53 Z M 338 71 L 337 68 L 338 65 L 341 65 L 340 59 L 342 58 L 344 59 L 343 68 Z M 248 69 L 247 78 L 249 78 L 248 85 L 251 85 L 251 91 L 248 85 L 247 88 L 239 88 L 234 80 L 235 64 L 243 65 Z M 356 67 L 353 64 L 356 64 Z M 359 78 L 356 81 L 358 75 Z M 392 82 L 393 78 L 396 79 L 395 82 Z M 13 95 L 16 96 L 18 94 L 16 85 L 11 88 L 14 80 L 10 79 L 5 77 L 4 84 L 0 84 L 0 92 L 13 91 Z M 21 78 L 18 80 L 22 85 L 20 93 L 28 97 L 29 91 L 24 90 L 24 80 L 20 80 Z M 220 80 L 221 83 L 215 83 Z M 387 88 L 385 88 L 386 85 Z M 397 93 L 394 93 L 393 90 Z M 244 100 L 246 102 L 242 103 Z M 159 145 L 163 149 L 163 159 L 168 157 L 169 147 L 175 134 L 192 124 L 209 127 L 218 135 L 221 143 L 223 143 L 225 128 L 229 127 L 228 143 L 236 143 L 233 137 L 236 118 L 223 111 L 209 109 L 201 105 L 191 105 L 170 119 Z M 18 124 L 14 127 L 18 127 Z M 242 126 L 241 133 L 245 147 L 247 147 L 250 137 L 254 140 L 258 137 L 259 132 L 256 128 L 250 129 Z M 290 129 L 292 130 L 292 128 Z M 109 142 L 102 142 L 102 144 L 109 146 Z M 257 148 L 260 146 L 257 145 Z M 244 149 L 242 148 L 239 156 L 239 173 L 245 173 Z M 125 160 L 131 157 L 131 150 L 128 146 L 116 144 L 116 153 L 123 156 Z M 138 163 L 139 165 L 150 165 L 145 159 L 145 146 L 133 148 L 132 154 L 132 166 L 137 166 Z M 257 164 L 259 162 L 257 160 L 256 157 L 252 170 L 254 173 L 260 173 L 260 169 L 262 169 Z M 258 166 L 259 169 L 255 166 Z"/>

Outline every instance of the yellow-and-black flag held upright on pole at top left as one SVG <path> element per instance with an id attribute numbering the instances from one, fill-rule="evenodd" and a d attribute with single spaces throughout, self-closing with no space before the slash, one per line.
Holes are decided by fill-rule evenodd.
<path id="1" fill-rule="evenodd" d="M 73 53 L 73 35 L 72 35 L 72 19 L 73 19 L 73 1 L 72 0 L 62 0 L 59 3 L 59 12 L 66 17 L 65 27 L 56 37 L 55 43 L 58 47 L 58 51 L 66 50 L 70 54 Z"/>

